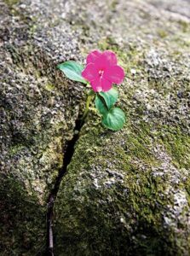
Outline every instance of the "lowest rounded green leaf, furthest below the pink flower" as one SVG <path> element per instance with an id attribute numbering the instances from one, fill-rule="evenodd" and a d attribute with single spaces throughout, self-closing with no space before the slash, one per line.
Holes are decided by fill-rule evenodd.
<path id="1" fill-rule="evenodd" d="M 102 124 L 112 131 L 118 131 L 124 127 L 125 114 L 120 108 L 112 108 L 103 115 Z"/>

